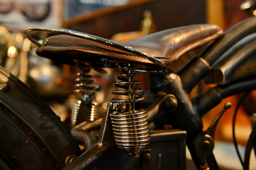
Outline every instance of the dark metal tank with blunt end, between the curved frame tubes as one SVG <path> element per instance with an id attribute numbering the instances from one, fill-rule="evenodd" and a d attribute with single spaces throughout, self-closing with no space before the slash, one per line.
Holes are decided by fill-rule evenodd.
<path id="1" fill-rule="evenodd" d="M 213 64 L 206 84 L 228 84 L 256 73 L 256 34 L 247 35 Z"/>

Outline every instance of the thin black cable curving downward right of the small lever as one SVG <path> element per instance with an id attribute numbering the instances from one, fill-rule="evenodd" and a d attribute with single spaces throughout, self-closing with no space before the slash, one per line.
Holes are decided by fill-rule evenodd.
<path id="1" fill-rule="evenodd" d="M 238 142 L 236 140 L 236 137 L 235 137 L 235 120 L 236 120 L 236 117 L 238 115 L 238 108 L 240 107 L 240 105 L 242 104 L 242 101 L 245 99 L 245 97 L 250 94 L 250 91 L 247 91 L 243 96 L 242 98 L 240 98 L 240 101 L 238 102 L 238 105 L 236 106 L 235 108 L 235 112 L 234 112 L 234 115 L 233 115 L 233 123 L 232 123 L 232 135 L 233 135 L 233 143 L 234 143 L 234 146 L 235 146 L 235 152 L 237 152 L 238 154 L 238 158 L 240 160 L 240 163 L 242 164 L 242 166 L 244 166 L 245 162 L 243 162 L 242 160 L 242 157 L 241 157 L 241 154 L 238 150 Z"/>

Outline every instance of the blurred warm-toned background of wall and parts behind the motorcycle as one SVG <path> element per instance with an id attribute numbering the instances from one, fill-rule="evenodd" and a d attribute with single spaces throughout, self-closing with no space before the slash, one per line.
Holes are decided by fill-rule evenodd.
<path id="1" fill-rule="evenodd" d="M 253 15 L 253 10 L 245 10 L 245 4 L 244 10 L 241 10 L 241 4 L 245 2 L 248 1 L 0 0 L 0 64 L 45 98 L 65 121 L 68 120 L 73 100 L 75 69 L 36 56 L 35 47 L 23 37 L 26 28 L 68 28 L 117 41 L 196 23 L 215 23 L 227 30 Z M 198 55 L 198 51 L 188 52 L 171 69 L 176 71 L 191 57 Z M 102 86 L 110 85 L 110 82 L 104 82 Z M 203 82 L 199 84 L 193 89 L 191 97 L 207 86 Z M 223 105 L 231 101 L 233 106 L 220 120 L 216 140 L 232 142 L 231 118 L 239 97 L 223 101 Z M 250 135 L 251 116 L 256 113 L 255 100 L 250 99 L 254 98 L 253 93 L 248 96 L 238 113 L 236 132 L 240 145 L 245 145 Z M 214 108 L 204 116 L 206 128 L 220 110 Z"/>

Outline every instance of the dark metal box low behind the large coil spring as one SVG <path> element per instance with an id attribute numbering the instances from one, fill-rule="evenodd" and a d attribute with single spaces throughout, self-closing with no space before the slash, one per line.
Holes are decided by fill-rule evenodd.
<path id="1" fill-rule="evenodd" d="M 152 159 L 152 161 L 146 163 L 144 153 L 149 153 L 148 149 L 150 149 L 151 154 L 149 159 Z M 175 129 L 152 130 L 150 143 L 142 150 L 140 158 L 129 158 L 122 149 L 117 148 L 95 168 L 99 170 L 141 170 L 146 167 L 155 170 L 185 170 L 186 132 Z"/>

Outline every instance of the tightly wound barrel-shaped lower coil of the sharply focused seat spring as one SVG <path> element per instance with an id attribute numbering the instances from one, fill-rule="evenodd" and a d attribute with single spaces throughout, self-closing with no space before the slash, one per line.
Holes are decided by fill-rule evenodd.
<path id="1" fill-rule="evenodd" d="M 129 157 L 139 157 L 139 152 L 149 144 L 149 128 L 146 111 L 112 113 L 114 142 Z"/>

